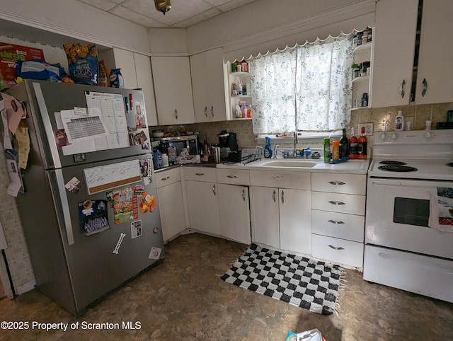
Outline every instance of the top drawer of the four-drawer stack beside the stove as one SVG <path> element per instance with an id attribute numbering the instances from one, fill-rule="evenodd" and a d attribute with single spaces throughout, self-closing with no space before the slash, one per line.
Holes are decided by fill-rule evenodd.
<path id="1" fill-rule="evenodd" d="M 365 195 L 367 175 L 311 173 L 311 190 Z"/>

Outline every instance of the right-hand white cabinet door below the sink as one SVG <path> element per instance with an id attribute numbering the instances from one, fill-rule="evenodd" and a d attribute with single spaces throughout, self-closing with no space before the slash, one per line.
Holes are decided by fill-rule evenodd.
<path id="1" fill-rule="evenodd" d="M 311 254 L 311 197 L 309 190 L 280 189 L 280 247 Z"/>

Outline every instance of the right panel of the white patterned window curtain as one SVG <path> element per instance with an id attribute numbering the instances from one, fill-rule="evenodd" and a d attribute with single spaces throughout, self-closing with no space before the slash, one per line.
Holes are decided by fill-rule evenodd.
<path id="1" fill-rule="evenodd" d="M 297 129 L 333 132 L 350 125 L 352 43 L 330 38 L 297 47 Z"/>

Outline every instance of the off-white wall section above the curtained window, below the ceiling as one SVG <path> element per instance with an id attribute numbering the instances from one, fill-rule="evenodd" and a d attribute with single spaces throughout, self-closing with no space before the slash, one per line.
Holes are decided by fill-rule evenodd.
<path id="1" fill-rule="evenodd" d="M 222 46 L 225 59 L 241 59 L 374 26 L 374 10 L 374 0 L 257 0 L 190 26 L 188 50 Z"/>

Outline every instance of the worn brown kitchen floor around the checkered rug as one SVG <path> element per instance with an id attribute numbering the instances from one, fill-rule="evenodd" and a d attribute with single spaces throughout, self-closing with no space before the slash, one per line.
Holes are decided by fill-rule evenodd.
<path id="1" fill-rule="evenodd" d="M 28 321 L 29 330 L 1 330 L 0 340 L 285 340 L 289 330 L 321 330 L 334 340 L 453 340 L 453 304 L 369 284 L 345 271 L 338 316 L 321 316 L 219 279 L 246 245 L 190 234 L 166 245 L 164 262 L 71 316 L 33 290 L 0 301 L 0 320 Z M 31 323 L 79 323 L 68 330 L 31 329 Z M 139 329 L 123 329 L 123 321 Z M 118 323 L 86 330 L 83 323 Z"/>

